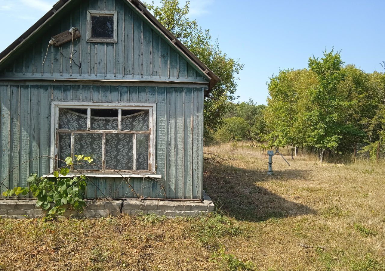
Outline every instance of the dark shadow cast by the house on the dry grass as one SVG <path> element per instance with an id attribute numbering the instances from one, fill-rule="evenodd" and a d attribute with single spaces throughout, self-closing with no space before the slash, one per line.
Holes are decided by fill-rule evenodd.
<path id="1" fill-rule="evenodd" d="M 204 188 L 219 209 L 241 221 L 260 222 L 270 218 L 315 214 L 316 211 L 310 207 L 286 200 L 257 185 L 272 178 L 305 178 L 307 171 L 289 169 L 275 173 L 275 176 L 269 177 L 266 172 L 258 170 L 209 167 L 204 173 Z"/>

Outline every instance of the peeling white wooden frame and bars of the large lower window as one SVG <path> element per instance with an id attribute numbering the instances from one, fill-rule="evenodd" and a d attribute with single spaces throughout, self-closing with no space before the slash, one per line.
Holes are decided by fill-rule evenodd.
<path id="1" fill-rule="evenodd" d="M 90 131 L 90 109 L 118 109 L 119 116 L 121 116 L 121 110 L 149 110 L 149 163 L 148 170 L 136 170 L 135 165 L 134 170 L 124 170 L 127 173 L 156 173 L 156 165 L 155 165 L 155 135 L 156 135 L 156 104 L 155 103 L 83 103 L 83 102 L 59 102 L 53 101 L 51 105 L 51 159 L 50 170 L 54 172 L 57 169 L 58 165 L 58 144 L 59 144 L 59 108 L 89 108 L 87 113 L 87 130 Z M 69 131 L 69 130 L 68 130 Z M 118 121 L 118 132 L 121 131 L 121 123 Z M 102 131 L 100 132 L 102 133 Z M 129 133 L 134 135 L 134 142 L 137 134 L 141 134 L 141 131 L 122 131 L 122 133 Z M 71 141 L 73 141 L 74 133 L 71 134 Z M 105 140 L 105 136 L 103 137 Z M 104 152 L 105 152 L 105 143 Z M 136 144 L 134 144 L 134 155 L 136 150 Z M 105 153 L 104 153 L 105 155 Z M 120 172 L 121 170 L 119 170 Z M 105 174 L 105 173 L 115 173 L 111 170 L 97 170 L 93 171 L 97 172 L 96 174 Z M 87 174 L 85 174 L 87 175 Z"/>

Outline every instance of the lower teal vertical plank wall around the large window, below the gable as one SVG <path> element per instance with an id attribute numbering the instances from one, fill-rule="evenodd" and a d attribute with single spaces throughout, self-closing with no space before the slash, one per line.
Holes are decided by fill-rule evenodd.
<path id="1" fill-rule="evenodd" d="M 203 191 L 202 88 L 95 85 L 26 85 L 0 82 L 0 182 L 26 186 L 30 173 L 48 174 L 52 101 L 156 103 L 156 168 L 160 182 L 130 181 L 138 194 L 201 199 Z M 30 159 L 30 162 L 26 162 Z M 13 170 L 7 177 L 10 170 Z M 161 186 L 164 185 L 164 191 Z M 5 187 L 0 185 L 0 192 Z M 93 178 L 87 198 L 134 197 L 121 178 Z"/>

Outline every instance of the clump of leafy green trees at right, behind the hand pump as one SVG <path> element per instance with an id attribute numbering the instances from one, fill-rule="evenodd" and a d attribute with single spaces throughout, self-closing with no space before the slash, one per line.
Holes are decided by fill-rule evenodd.
<path id="1" fill-rule="evenodd" d="M 325 153 L 349 153 L 358 142 L 382 140 L 385 75 L 344 66 L 340 52 L 311 57 L 309 70 L 283 70 L 268 82 L 266 141 L 305 145 Z"/>

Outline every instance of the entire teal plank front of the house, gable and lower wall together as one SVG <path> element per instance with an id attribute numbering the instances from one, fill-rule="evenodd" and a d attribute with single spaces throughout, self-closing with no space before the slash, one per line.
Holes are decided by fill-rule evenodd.
<path id="1" fill-rule="evenodd" d="M 70 5 L 1 64 L 0 182 L 27 186 L 30 173 L 50 173 L 52 101 L 156 103 L 162 179 L 132 178 L 130 187 L 121 178 L 92 178 L 87 198 L 135 197 L 133 188 L 146 197 L 201 199 L 207 75 L 126 0 Z M 87 42 L 87 10 L 117 10 L 117 43 Z M 74 40 L 72 62 L 72 42 L 47 50 L 51 37 L 70 27 L 82 35 Z"/>

